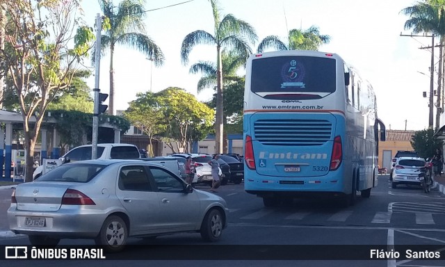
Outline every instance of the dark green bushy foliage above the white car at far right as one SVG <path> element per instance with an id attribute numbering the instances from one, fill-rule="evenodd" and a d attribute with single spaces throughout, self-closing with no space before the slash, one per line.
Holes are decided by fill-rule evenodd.
<path id="1" fill-rule="evenodd" d="M 437 148 L 442 150 L 443 142 L 434 137 L 434 129 L 416 131 L 412 136 L 411 145 L 422 158 L 431 158 Z"/>

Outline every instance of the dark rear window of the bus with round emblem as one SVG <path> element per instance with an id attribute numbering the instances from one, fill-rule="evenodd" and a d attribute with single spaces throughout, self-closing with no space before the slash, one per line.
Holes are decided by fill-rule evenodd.
<path id="1" fill-rule="evenodd" d="M 335 92 L 335 59 L 278 56 L 252 60 L 252 92 Z"/>

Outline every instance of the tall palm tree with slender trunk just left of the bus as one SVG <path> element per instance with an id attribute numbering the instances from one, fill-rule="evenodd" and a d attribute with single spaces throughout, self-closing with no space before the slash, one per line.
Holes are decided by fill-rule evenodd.
<path id="1" fill-rule="evenodd" d="M 213 44 L 216 46 L 216 153 L 223 152 L 223 61 L 221 52 L 228 47 L 239 55 L 252 54 L 247 38 L 256 42 L 258 37 L 253 27 L 234 15 L 225 15 L 220 19 L 220 11 L 216 0 L 210 0 L 213 10 L 215 33 L 207 31 L 193 31 L 186 35 L 181 44 L 181 60 L 188 63 L 188 55 L 197 44 Z"/>

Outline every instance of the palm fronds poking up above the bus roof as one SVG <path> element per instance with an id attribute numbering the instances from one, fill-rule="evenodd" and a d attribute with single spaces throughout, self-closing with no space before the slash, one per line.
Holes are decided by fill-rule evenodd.
<path id="1" fill-rule="evenodd" d="M 257 51 L 262 53 L 268 48 L 276 50 L 318 50 L 321 44 L 330 42 L 329 35 L 321 35 L 318 27 L 310 26 L 306 31 L 292 29 L 287 36 L 287 44 L 276 35 L 269 35 L 258 44 Z"/>

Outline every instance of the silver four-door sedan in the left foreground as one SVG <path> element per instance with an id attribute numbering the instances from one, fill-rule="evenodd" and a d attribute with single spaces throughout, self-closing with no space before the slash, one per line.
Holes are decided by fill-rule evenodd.
<path id="1" fill-rule="evenodd" d="M 67 163 L 19 184 L 7 212 L 11 231 L 28 235 L 31 245 L 91 238 L 109 252 L 122 250 L 129 237 L 178 232 L 218 241 L 227 213 L 222 197 L 159 164 L 113 159 Z"/>

